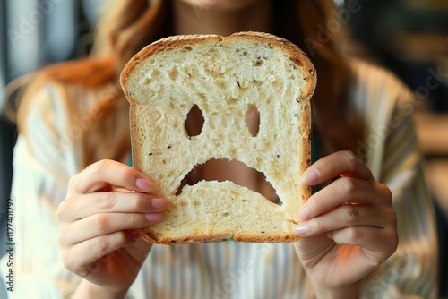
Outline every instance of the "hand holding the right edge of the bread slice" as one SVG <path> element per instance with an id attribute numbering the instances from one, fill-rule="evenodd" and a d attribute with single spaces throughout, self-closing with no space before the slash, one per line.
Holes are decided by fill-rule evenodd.
<path id="1" fill-rule="evenodd" d="M 304 173 L 303 184 L 322 184 L 299 212 L 303 239 L 297 255 L 318 295 L 349 298 L 357 282 L 395 252 L 398 245 L 392 193 L 350 151 L 322 158 Z M 358 296 L 357 296 L 358 297 Z"/>

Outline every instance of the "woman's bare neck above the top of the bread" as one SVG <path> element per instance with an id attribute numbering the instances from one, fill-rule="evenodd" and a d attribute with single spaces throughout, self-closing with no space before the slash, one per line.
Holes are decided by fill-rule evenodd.
<path id="1" fill-rule="evenodd" d="M 239 31 L 272 32 L 272 1 L 255 1 L 247 7 L 225 11 L 212 7 L 194 7 L 173 1 L 175 34 L 219 34 L 228 36 Z"/>

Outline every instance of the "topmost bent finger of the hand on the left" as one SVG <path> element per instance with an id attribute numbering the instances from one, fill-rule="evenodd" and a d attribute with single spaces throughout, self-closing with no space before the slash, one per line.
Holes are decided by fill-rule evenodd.
<path id="1" fill-rule="evenodd" d="M 73 175 L 68 189 L 69 192 L 83 194 L 99 191 L 109 184 L 138 192 L 157 191 L 156 184 L 152 183 L 149 177 L 114 160 L 100 160 L 81 173 Z"/>

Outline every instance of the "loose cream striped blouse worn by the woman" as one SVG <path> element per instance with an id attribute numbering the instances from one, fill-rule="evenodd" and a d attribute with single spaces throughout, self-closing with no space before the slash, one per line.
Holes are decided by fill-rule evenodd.
<path id="1" fill-rule="evenodd" d="M 435 215 L 426 190 L 412 112 L 412 97 L 383 69 L 352 62 L 356 80 L 351 102 L 366 120 L 366 141 L 357 154 L 375 178 L 392 190 L 398 216 L 398 250 L 363 280 L 361 298 L 435 298 Z M 57 244 L 56 208 L 69 178 L 79 172 L 79 150 L 61 142 L 68 112 L 57 98 L 68 89 L 50 85 L 36 95 L 30 134 L 19 136 L 14 155 L 14 298 L 63 298 L 79 278 L 66 270 Z M 70 90 L 69 90 L 70 91 Z M 84 90 L 86 109 L 92 105 Z M 86 110 L 88 111 L 88 110 Z M 54 153 L 59 150 L 58 154 Z M 0 261 L 2 278 L 6 260 Z M 15 296 L 13 296 L 15 295 Z M 154 245 L 129 290 L 131 298 L 313 298 L 314 289 L 290 243 L 198 243 Z"/>

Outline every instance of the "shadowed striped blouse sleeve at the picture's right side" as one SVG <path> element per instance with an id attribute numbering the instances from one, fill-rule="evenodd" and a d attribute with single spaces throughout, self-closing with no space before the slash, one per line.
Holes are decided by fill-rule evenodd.
<path id="1" fill-rule="evenodd" d="M 392 191 L 399 246 L 365 279 L 361 298 L 436 298 L 437 237 L 433 198 L 426 188 L 409 95 L 396 102 L 387 124 L 381 181 Z"/>

